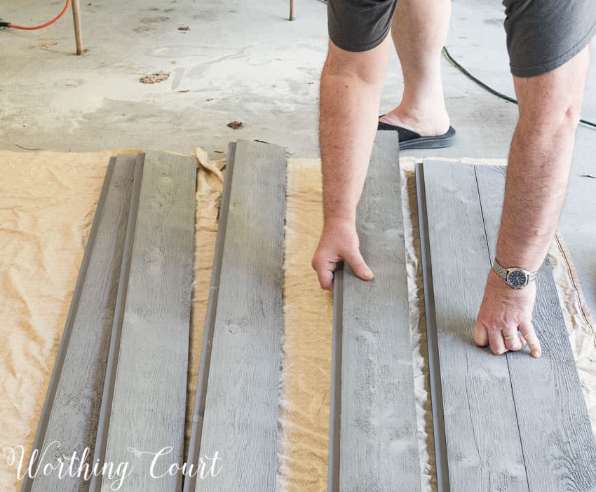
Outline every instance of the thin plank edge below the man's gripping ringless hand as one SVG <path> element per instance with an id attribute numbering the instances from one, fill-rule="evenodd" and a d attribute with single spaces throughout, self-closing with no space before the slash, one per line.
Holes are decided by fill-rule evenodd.
<path id="1" fill-rule="evenodd" d="M 344 313 L 344 264 L 333 275 L 333 334 L 331 348 L 331 401 L 329 411 L 329 470 L 327 491 L 339 492 L 341 429 L 341 336 Z"/>

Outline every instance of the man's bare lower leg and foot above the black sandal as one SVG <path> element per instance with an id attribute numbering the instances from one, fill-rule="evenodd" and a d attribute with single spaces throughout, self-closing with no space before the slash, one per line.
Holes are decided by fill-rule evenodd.
<path id="1" fill-rule="evenodd" d="M 404 76 L 402 102 L 381 121 L 442 135 L 449 128 L 441 81 L 441 50 L 447 39 L 450 0 L 399 0 L 391 36 Z"/>

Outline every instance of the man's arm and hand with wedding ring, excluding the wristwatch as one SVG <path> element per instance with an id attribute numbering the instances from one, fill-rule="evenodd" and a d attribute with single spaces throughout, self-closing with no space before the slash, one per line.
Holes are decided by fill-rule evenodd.
<path id="1" fill-rule="evenodd" d="M 528 271 L 540 268 L 559 220 L 579 121 L 588 48 L 562 67 L 530 78 L 514 77 L 520 120 L 511 142 L 496 259 Z M 541 348 L 531 324 L 536 285 L 511 289 L 493 271 L 478 313 L 474 339 L 493 353 Z M 517 338 L 517 331 L 523 338 Z M 512 339 L 503 339 L 513 336 Z"/>

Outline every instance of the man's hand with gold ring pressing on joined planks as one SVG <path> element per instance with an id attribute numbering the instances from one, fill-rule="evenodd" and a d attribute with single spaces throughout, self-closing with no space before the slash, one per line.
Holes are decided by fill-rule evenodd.
<path id="1" fill-rule="evenodd" d="M 474 328 L 476 344 L 490 345 L 492 353 L 500 355 L 508 350 L 522 350 L 528 343 L 531 354 L 540 357 L 540 341 L 531 322 L 534 301 L 536 282 L 523 289 L 512 289 L 491 271 Z M 521 336 L 517 336 L 518 331 Z"/>

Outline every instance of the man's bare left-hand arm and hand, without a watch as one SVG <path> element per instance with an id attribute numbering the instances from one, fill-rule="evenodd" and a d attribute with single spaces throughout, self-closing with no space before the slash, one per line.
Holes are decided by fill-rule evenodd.
<path id="1" fill-rule="evenodd" d="M 358 277 L 372 278 L 360 254 L 355 216 L 377 132 L 390 41 L 387 37 L 377 48 L 360 53 L 342 50 L 330 41 L 320 81 L 325 221 L 313 257 L 324 289 L 332 289 L 335 264 L 341 260 Z"/>

